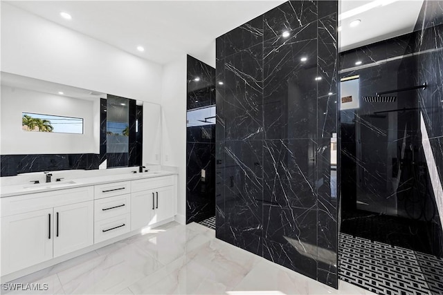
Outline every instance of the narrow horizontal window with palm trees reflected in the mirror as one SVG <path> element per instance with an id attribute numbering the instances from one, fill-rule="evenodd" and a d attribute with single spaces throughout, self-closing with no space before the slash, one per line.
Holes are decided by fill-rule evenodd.
<path id="1" fill-rule="evenodd" d="M 36 113 L 21 113 L 21 130 L 83 134 L 83 119 Z"/>

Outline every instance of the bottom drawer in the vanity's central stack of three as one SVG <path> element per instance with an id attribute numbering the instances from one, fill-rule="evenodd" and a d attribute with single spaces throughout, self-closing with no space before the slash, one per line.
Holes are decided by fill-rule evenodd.
<path id="1" fill-rule="evenodd" d="M 129 232 L 131 228 L 131 214 L 116 216 L 94 223 L 94 243 L 103 242 L 110 238 Z"/>

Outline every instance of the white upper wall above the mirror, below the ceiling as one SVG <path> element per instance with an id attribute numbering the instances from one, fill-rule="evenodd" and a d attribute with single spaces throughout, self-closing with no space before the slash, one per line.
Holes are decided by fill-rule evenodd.
<path id="1" fill-rule="evenodd" d="M 1 70 L 161 102 L 160 64 L 1 3 Z"/>

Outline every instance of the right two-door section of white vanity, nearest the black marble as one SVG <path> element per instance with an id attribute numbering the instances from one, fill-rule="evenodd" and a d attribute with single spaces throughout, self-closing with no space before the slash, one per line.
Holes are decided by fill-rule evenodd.
<path id="1" fill-rule="evenodd" d="M 132 181 L 131 230 L 174 217 L 175 183 L 172 175 Z"/>

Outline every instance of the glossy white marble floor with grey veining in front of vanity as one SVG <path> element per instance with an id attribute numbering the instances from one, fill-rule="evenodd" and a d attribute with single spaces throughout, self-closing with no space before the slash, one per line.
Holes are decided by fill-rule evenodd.
<path id="1" fill-rule="evenodd" d="M 48 283 L 26 294 L 372 294 L 343 281 L 332 289 L 218 240 L 213 229 L 177 222 L 13 283 Z"/>

